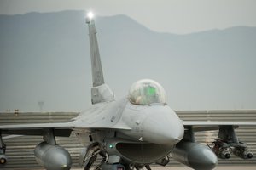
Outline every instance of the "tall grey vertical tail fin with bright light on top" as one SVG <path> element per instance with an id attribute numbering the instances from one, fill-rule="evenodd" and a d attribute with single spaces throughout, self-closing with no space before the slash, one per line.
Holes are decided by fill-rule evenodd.
<path id="1" fill-rule="evenodd" d="M 91 103 L 96 104 L 112 101 L 113 93 L 104 82 L 102 62 L 96 37 L 96 27 L 91 15 L 87 16 L 86 23 L 89 27 L 90 60 L 93 84 L 93 87 L 91 88 Z"/>

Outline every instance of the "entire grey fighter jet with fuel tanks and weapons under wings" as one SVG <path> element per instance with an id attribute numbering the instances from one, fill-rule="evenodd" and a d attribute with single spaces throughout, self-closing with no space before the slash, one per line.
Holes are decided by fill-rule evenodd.
<path id="1" fill-rule="evenodd" d="M 88 14 L 92 71 L 92 107 L 70 122 L 0 126 L 0 164 L 7 163 L 2 134 L 40 135 L 34 156 L 48 170 L 67 170 L 72 160 L 67 150 L 56 144 L 55 137 L 69 137 L 73 132 L 84 150 L 79 164 L 85 170 L 150 169 L 153 163 L 166 166 L 170 156 L 197 170 L 217 166 L 218 158 L 230 155 L 250 159 L 253 153 L 237 136 L 236 127 L 256 122 L 186 122 L 167 105 L 166 92 L 160 83 L 143 79 L 131 85 L 123 99 L 115 99 L 105 83 L 96 38 L 93 14 Z M 207 145 L 195 141 L 194 133 L 217 130 L 218 138 Z M 96 159 L 100 161 L 96 161 Z"/>

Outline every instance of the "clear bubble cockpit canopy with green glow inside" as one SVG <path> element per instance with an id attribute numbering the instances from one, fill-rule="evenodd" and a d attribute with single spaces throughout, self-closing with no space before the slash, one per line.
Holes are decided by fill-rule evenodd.
<path id="1" fill-rule="evenodd" d="M 153 80 L 143 79 L 131 85 L 128 98 L 135 105 L 166 104 L 164 88 Z"/>

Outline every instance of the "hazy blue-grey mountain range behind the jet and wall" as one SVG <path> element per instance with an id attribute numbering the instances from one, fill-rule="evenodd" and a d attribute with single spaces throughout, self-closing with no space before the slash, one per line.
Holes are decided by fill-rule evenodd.
<path id="1" fill-rule="evenodd" d="M 43 111 L 90 106 L 84 16 L 0 15 L 0 111 L 38 111 L 39 101 Z M 105 81 L 118 99 L 132 82 L 151 78 L 176 110 L 255 109 L 256 27 L 178 35 L 151 31 L 125 15 L 95 20 Z"/>

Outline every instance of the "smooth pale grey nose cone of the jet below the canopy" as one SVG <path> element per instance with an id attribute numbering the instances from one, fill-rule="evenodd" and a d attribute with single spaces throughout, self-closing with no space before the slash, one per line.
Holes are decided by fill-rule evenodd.
<path id="1" fill-rule="evenodd" d="M 173 145 L 183 139 L 183 123 L 168 106 L 148 108 L 142 129 L 143 140 L 154 144 Z"/>

